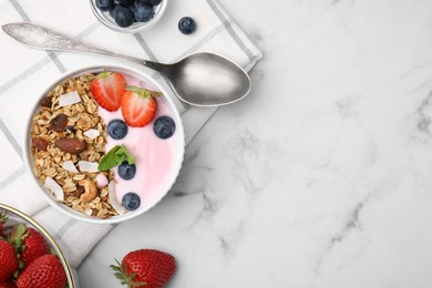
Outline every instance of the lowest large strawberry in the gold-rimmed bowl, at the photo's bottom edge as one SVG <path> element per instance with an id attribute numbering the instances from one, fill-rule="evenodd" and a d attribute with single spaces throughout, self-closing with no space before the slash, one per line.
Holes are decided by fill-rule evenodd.
<path id="1" fill-rule="evenodd" d="M 18 277 L 18 288 L 64 288 L 68 282 L 63 265 L 55 255 L 34 259 Z"/>

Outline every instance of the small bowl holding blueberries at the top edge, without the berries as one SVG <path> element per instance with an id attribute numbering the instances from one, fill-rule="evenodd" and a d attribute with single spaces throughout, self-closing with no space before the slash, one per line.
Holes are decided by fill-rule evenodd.
<path id="1" fill-rule="evenodd" d="M 155 14 L 154 17 L 147 21 L 147 22 L 134 22 L 130 27 L 120 27 L 117 23 L 115 23 L 114 19 L 110 16 L 109 12 L 102 12 L 95 3 L 95 0 L 89 0 L 90 1 L 90 7 L 93 11 L 93 14 L 96 17 L 96 19 L 104 24 L 105 27 L 117 31 L 122 33 L 140 33 L 145 30 L 148 30 L 152 28 L 154 24 L 156 24 L 161 18 L 163 17 L 166 6 L 168 3 L 168 0 L 162 0 L 162 2 L 155 7 Z"/>

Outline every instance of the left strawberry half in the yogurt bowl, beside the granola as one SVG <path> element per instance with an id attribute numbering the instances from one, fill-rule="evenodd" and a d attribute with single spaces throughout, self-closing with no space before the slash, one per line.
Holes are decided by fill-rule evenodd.
<path id="1" fill-rule="evenodd" d="M 91 91 L 97 104 L 110 112 L 117 111 L 122 103 L 126 81 L 116 72 L 102 72 L 92 81 Z"/>

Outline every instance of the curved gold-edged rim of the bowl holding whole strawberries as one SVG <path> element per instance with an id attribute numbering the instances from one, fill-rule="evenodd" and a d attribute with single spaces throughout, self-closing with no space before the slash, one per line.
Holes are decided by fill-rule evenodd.
<path id="1" fill-rule="evenodd" d="M 8 212 L 11 212 L 13 214 L 17 214 L 18 216 L 20 216 L 21 218 L 23 218 L 24 220 L 30 223 L 33 227 L 35 227 L 42 234 L 42 236 L 45 237 L 50 241 L 51 246 L 54 248 L 54 250 L 56 253 L 56 256 L 60 258 L 60 261 L 63 265 L 63 268 L 65 270 L 66 278 L 68 278 L 68 285 L 70 286 L 69 288 L 78 287 L 75 285 L 75 280 L 73 277 L 71 266 L 69 265 L 66 257 L 64 256 L 63 251 L 61 250 L 61 248 L 60 248 L 59 244 L 56 243 L 56 240 L 54 239 L 54 237 L 52 237 L 51 234 L 45 228 L 43 228 L 42 225 L 40 225 L 37 220 L 34 220 L 32 217 L 30 217 L 25 213 L 17 209 L 12 206 L 2 204 L 2 203 L 0 203 L 0 208 L 3 210 L 8 210 Z"/>

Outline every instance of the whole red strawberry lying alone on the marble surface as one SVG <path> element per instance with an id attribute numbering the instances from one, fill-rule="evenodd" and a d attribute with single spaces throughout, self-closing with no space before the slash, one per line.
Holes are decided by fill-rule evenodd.
<path id="1" fill-rule="evenodd" d="M 119 261 L 117 265 L 111 265 L 114 275 L 131 288 L 164 287 L 176 269 L 172 255 L 155 249 L 131 251 L 123 258 L 122 265 Z"/>

